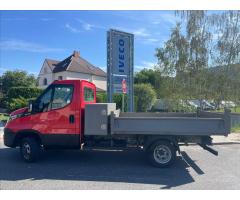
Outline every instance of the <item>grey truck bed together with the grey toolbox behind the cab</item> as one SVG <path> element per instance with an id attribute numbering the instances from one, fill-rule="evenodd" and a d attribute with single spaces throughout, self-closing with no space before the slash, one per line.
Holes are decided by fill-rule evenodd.
<path id="1" fill-rule="evenodd" d="M 227 136 L 230 133 L 230 113 L 227 110 L 223 114 L 202 111 L 121 113 L 120 110 L 114 109 L 115 107 L 112 104 L 86 105 L 85 119 L 91 116 L 95 116 L 95 119 L 91 122 L 86 121 L 85 135 Z M 110 115 L 102 114 L 110 112 Z M 95 122 L 96 119 L 98 123 Z M 98 134 L 97 130 L 103 127 L 109 128 Z"/>

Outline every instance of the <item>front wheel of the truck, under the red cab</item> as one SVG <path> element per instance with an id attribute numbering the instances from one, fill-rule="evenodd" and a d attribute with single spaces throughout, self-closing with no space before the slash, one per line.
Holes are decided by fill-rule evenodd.
<path id="1" fill-rule="evenodd" d="M 25 162 L 34 162 L 39 158 L 41 146 L 34 137 L 26 137 L 21 140 L 20 154 Z"/>

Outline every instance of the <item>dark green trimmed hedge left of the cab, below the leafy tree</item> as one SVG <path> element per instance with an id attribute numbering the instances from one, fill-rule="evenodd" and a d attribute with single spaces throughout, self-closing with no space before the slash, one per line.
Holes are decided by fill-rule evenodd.
<path id="1" fill-rule="evenodd" d="M 23 97 L 25 99 L 35 98 L 42 93 L 42 89 L 37 87 L 12 87 L 7 93 L 8 99 Z"/>

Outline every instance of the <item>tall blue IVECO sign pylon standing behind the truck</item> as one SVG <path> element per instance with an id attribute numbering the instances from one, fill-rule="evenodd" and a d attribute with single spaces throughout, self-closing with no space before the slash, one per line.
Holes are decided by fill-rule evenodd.
<path id="1" fill-rule="evenodd" d="M 129 110 L 133 109 L 133 34 L 110 30 L 107 35 L 108 100 L 113 93 L 122 93 L 126 80 Z"/>

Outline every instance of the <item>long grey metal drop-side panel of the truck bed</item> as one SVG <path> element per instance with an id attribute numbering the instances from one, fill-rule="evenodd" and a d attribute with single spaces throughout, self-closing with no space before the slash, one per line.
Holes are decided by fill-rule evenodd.
<path id="1" fill-rule="evenodd" d="M 111 134 L 154 134 L 154 135 L 227 135 L 230 133 L 229 113 L 211 115 L 201 112 L 199 117 L 151 117 L 149 114 L 112 115 Z M 202 115 L 202 116 L 201 116 Z M 150 117 L 149 117 L 150 116 Z"/>

